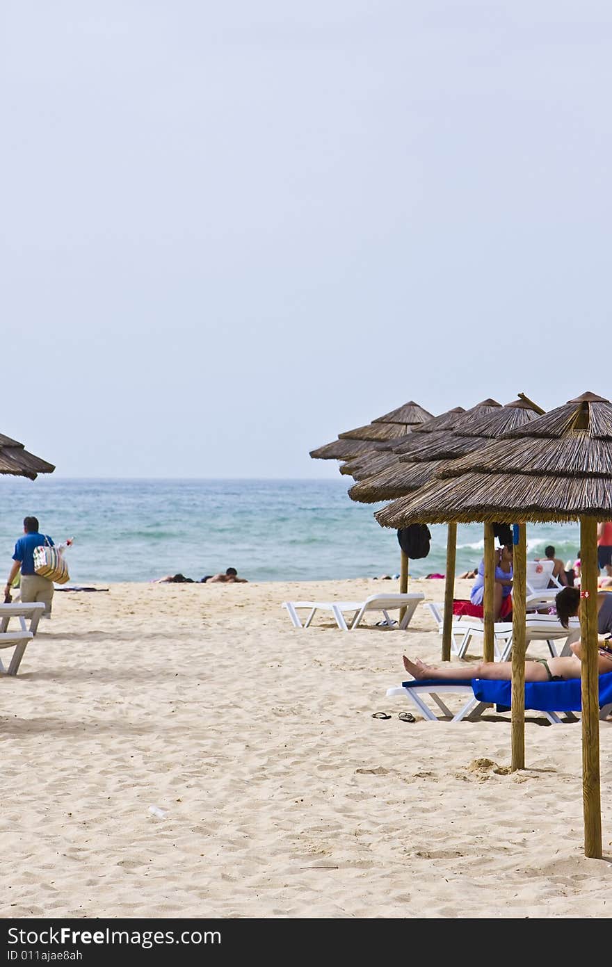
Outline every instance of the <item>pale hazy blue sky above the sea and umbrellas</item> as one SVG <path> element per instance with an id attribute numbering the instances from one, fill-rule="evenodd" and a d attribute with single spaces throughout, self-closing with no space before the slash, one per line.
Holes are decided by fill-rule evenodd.
<path id="1" fill-rule="evenodd" d="M 0 432 L 56 475 L 612 396 L 609 4 L 5 0 L 0 85 Z"/>

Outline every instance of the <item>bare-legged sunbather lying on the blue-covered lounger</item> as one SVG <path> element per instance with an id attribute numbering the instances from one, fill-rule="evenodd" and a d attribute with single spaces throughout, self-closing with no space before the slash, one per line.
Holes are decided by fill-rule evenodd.
<path id="1" fill-rule="evenodd" d="M 569 646 L 572 655 L 559 659 L 531 659 L 525 662 L 526 682 L 562 682 L 568 678 L 580 678 L 582 662 L 580 660 L 580 642 L 574 641 Z M 510 682 L 512 678 L 511 661 L 481 661 L 479 664 L 448 663 L 442 668 L 425 664 L 421 659 L 411 661 L 403 657 L 404 668 L 413 678 L 433 679 L 434 681 L 469 682 L 473 678 L 484 678 Z M 599 641 L 598 675 L 605 675 L 612 671 L 612 648 L 607 642 Z"/>

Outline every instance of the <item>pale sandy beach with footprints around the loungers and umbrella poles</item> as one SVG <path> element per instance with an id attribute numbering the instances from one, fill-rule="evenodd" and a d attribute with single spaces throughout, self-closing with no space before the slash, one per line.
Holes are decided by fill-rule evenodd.
<path id="1" fill-rule="evenodd" d="M 611 723 L 588 860 L 579 723 L 528 713 L 512 775 L 510 714 L 407 723 L 386 698 L 403 651 L 439 659 L 423 606 L 350 633 L 280 607 L 396 582 L 108 587 L 56 593 L 0 682 L 4 917 L 608 916 Z"/>

